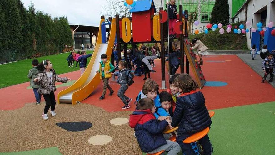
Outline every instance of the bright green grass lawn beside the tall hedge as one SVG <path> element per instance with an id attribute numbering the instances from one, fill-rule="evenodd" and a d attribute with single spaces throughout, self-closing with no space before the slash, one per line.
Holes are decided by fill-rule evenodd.
<path id="1" fill-rule="evenodd" d="M 93 51 L 86 51 L 87 54 L 93 53 Z M 73 65 L 73 68 L 68 68 L 68 61 L 66 60 L 68 55 L 70 53 L 63 53 L 63 54 L 57 54 L 57 55 L 49 55 L 49 56 L 43 56 L 37 59 L 39 62 L 43 60 L 50 60 L 53 64 L 53 68 L 56 70 L 57 74 L 62 73 L 68 73 L 75 70 L 79 70 L 78 68 L 75 68 L 75 65 Z M 90 62 L 90 58 L 87 59 L 87 65 Z M 0 65 L 0 72 L 2 73 L 2 82 L 0 84 L 0 88 L 7 87 L 10 85 L 16 85 L 20 83 L 24 83 L 29 81 L 27 78 L 29 70 L 32 68 L 32 60 L 33 59 L 27 59 L 27 60 L 20 60 L 18 62 L 8 63 Z"/>

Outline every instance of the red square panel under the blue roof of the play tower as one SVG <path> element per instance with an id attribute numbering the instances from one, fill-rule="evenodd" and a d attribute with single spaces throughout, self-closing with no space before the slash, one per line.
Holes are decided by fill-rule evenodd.
<path id="1" fill-rule="evenodd" d="M 132 13 L 133 42 L 151 41 L 150 10 Z"/>

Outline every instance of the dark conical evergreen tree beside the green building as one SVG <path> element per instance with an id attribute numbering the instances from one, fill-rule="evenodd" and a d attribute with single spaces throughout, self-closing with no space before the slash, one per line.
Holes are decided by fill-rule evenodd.
<path id="1" fill-rule="evenodd" d="M 210 23 L 217 23 L 220 21 L 221 24 L 229 23 L 229 4 L 227 0 L 216 0 L 215 5 L 213 7 L 213 11 L 211 13 L 211 21 Z"/>

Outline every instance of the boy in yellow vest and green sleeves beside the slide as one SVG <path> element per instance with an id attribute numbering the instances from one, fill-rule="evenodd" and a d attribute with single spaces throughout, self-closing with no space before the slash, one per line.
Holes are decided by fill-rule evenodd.
<path id="1" fill-rule="evenodd" d="M 100 73 L 100 79 L 103 80 L 103 92 L 102 95 L 99 97 L 99 100 L 103 100 L 106 94 L 106 88 L 110 90 L 109 96 L 113 95 L 114 91 L 110 87 L 108 81 L 111 77 L 112 71 L 115 70 L 115 67 L 111 64 L 109 60 L 107 60 L 106 54 L 101 54 L 101 61 L 99 63 L 99 70 L 97 73 Z"/>

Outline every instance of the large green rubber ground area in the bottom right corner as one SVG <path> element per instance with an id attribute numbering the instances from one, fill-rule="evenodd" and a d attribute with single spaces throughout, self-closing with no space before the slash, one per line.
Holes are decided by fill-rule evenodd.
<path id="1" fill-rule="evenodd" d="M 275 102 L 214 110 L 214 155 L 274 154 Z"/>

